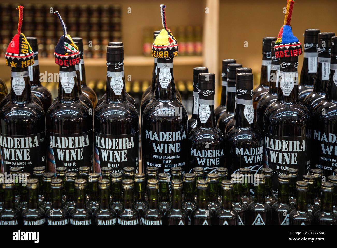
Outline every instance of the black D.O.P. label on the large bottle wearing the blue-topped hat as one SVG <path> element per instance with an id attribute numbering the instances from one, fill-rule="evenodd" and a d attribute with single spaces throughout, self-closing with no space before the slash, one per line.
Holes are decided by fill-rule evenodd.
<path id="1" fill-rule="evenodd" d="M 277 175 L 286 174 L 288 168 L 298 169 L 300 176 L 307 174 L 310 169 L 310 137 L 285 137 L 265 133 L 264 163 L 273 169 L 273 194 L 278 195 Z"/>

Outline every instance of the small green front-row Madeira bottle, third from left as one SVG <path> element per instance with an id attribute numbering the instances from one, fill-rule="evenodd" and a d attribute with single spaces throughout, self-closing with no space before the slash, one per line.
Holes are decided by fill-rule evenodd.
<path id="1" fill-rule="evenodd" d="M 48 225 L 68 225 L 69 212 L 63 207 L 62 201 L 62 184 L 61 178 L 54 178 L 50 182 L 52 189 L 53 204 L 45 213 L 46 222 Z"/>

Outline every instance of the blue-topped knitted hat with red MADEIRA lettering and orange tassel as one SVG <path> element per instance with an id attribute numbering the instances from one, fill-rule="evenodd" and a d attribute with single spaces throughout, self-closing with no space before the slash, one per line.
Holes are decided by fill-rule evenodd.
<path id="1" fill-rule="evenodd" d="M 274 47 L 276 58 L 294 57 L 302 54 L 301 42 L 293 34 L 292 27 L 290 26 L 294 2 L 294 0 L 288 0 L 287 2 L 284 23 L 278 33 Z"/>

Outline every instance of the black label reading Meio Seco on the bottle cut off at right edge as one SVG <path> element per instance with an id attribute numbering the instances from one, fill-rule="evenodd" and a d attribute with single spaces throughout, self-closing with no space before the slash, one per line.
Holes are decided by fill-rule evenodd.
<path id="1" fill-rule="evenodd" d="M 331 175 L 337 168 L 337 135 L 315 129 L 313 139 L 315 151 L 313 167 L 322 169 L 325 176 Z"/>

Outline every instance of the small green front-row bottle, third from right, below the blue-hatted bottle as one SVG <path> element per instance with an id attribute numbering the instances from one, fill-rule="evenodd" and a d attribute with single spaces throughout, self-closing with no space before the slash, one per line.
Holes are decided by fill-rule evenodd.
<path id="1" fill-rule="evenodd" d="M 289 225 L 289 213 L 295 209 L 289 202 L 290 176 L 278 175 L 278 201 L 272 205 L 272 219 L 274 225 Z"/>

